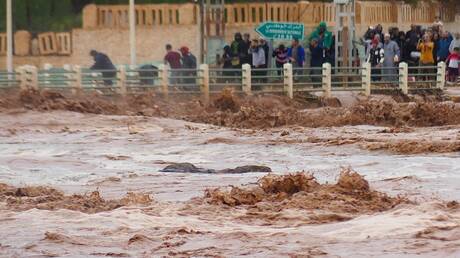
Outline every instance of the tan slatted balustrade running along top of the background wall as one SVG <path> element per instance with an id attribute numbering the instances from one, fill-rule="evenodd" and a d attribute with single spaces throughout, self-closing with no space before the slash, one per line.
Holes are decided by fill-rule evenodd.
<path id="1" fill-rule="evenodd" d="M 136 7 L 138 26 L 190 25 L 197 23 L 195 4 L 150 4 Z M 332 3 L 299 1 L 298 3 L 236 3 L 225 5 L 228 25 L 252 25 L 265 21 L 301 22 L 306 25 L 320 21 L 335 23 Z M 423 2 L 418 6 L 393 1 L 357 1 L 356 22 L 377 23 L 431 23 L 436 15 L 445 22 L 455 20 L 455 10 L 438 4 Z M 213 18 L 211 17 L 211 20 Z M 127 5 L 88 5 L 83 10 L 83 28 L 127 28 Z"/>

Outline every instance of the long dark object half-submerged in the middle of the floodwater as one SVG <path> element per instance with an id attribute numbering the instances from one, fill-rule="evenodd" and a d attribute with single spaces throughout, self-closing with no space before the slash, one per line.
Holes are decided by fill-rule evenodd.
<path id="1" fill-rule="evenodd" d="M 271 168 L 265 166 L 242 166 L 237 168 L 227 168 L 222 170 L 198 168 L 191 163 L 174 163 L 166 166 L 160 172 L 173 173 L 204 173 L 204 174 L 243 174 L 251 172 L 272 172 Z"/>

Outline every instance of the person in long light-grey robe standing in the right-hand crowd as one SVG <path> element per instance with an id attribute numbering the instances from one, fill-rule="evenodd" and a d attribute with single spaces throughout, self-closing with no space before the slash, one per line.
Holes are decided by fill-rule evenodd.
<path id="1" fill-rule="evenodd" d="M 391 82 L 398 81 L 397 74 L 398 70 L 396 68 L 396 63 L 399 62 L 399 57 L 401 52 L 399 50 L 398 44 L 390 39 L 390 34 L 385 34 L 383 51 L 385 53 L 383 61 L 383 74 L 386 76 L 386 80 Z"/>

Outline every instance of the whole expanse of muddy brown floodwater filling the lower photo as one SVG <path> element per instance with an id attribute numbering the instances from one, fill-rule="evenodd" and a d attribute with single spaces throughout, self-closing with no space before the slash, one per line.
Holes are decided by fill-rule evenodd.
<path id="1" fill-rule="evenodd" d="M 9 110 L 0 257 L 460 257 L 459 140 L 460 125 L 253 130 Z M 176 163 L 211 172 L 160 172 Z M 225 173 L 248 165 L 272 172 Z"/>

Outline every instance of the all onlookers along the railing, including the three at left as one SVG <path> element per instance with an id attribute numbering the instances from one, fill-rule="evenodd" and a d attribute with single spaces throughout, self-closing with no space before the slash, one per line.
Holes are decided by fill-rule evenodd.
<path id="1" fill-rule="evenodd" d="M 274 66 L 279 68 L 279 76 L 282 75 L 281 68 L 286 63 L 291 63 L 293 68 L 308 66 L 306 60 L 310 60 L 309 66 L 312 68 L 320 68 L 324 63 L 334 65 L 335 35 L 328 30 L 325 22 L 321 22 L 313 30 L 306 43 L 307 49 L 299 39 L 294 38 L 289 46 L 280 44 L 274 48 L 263 38 L 251 39 L 248 33 L 235 33 L 234 40 L 223 48 L 223 54 L 218 61 L 224 68 L 223 75 L 226 78 L 239 76 L 243 64 L 251 65 L 253 80 L 259 83 L 267 82 L 267 69 L 264 68 L 270 68 L 272 60 Z M 434 74 L 430 67 L 445 62 L 448 82 L 455 83 L 459 76 L 460 33 L 452 34 L 444 30 L 439 17 L 432 26 L 423 28 L 414 24 L 407 32 L 398 28 L 389 28 L 384 32 L 382 25 L 378 24 L 368 28 L 360 43 L 365 49 L 364 62 L 373 67 L 373 81 L 398 81 L 397 66 L 400 62 L 407 63 L 409 67 L 425 66 L 428 69 L 424 69 L 423 73 L 426 74 Z M 91 56 L 95 60 L 92 69 L 115 69 L 107 55 L 93 50 Z M 164 63 L 171 69 L 171 84 L 195 82 L 197 60 L 188 47 L 174 51 L 167 44 Z M 298 69 L 294 69 L 294 72 L 300 73 Z M 310 72 L 312 81 L 320 80 L 318 75 L 321 74 L 321 69 L 310 69 Z M 112 73 L 105 72 L 104 77 L 113 77 Z M 105 83 L 111 85 L 111 80 L 105 79 Z"/>

